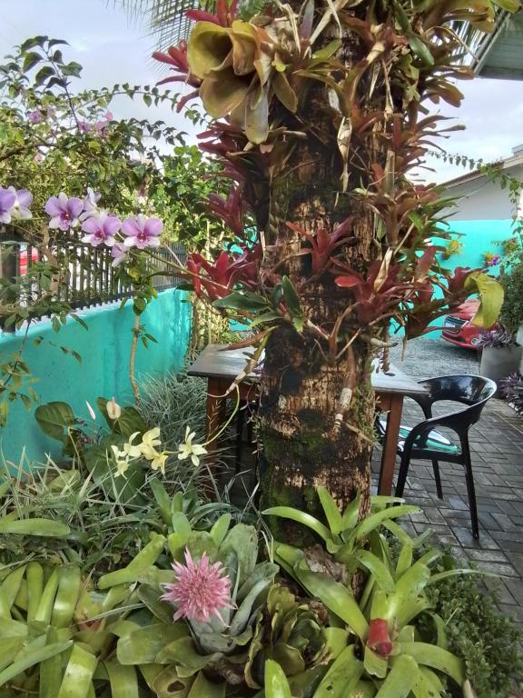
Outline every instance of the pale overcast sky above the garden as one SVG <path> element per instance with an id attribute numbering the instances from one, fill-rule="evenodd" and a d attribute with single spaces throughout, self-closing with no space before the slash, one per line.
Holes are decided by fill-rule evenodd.
<path id="1" fill-rule="evenodd" d="M 69 57 L 84 65 L 84 86 L 103 87 L 128 82 L 153 85 L 161 77 L 150 56 L 153 38 L 140 18 L 129 20 L 113 0 L 0 0 L 0 56 L 29 36 L 49 35 L 71 44 Z M 460 85 L 465 100 L 460 109 L 442 107 L 443 114 L 467 130 L 444 141 L 449 152 L 486 161 L 511 155 L 523 144 L 523 82 L 477 79 Z M 193 134 L 192 125 L 168 107 L 147 108 L 140 100 L 122 100 L 113 107 L 118 116 L 163 119 Z M 465 170 L 432 163 L 429 180 L 444 181 Z"/>

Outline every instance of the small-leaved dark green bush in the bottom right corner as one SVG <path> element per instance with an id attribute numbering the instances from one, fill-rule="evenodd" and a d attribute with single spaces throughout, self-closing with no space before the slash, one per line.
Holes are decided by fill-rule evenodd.
<path id="1" fill-rule="evenodd" d="M 463 658 L 479 698 L 506 698 L 523 681 L 523 636 L 499 613 L 496 594 L 456 576 L 434 584 L 429 595 L 446 625 L 449 649 Z"/>

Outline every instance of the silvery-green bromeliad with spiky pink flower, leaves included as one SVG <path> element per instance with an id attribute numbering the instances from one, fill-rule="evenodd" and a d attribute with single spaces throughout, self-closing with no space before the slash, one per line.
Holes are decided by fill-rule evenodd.
<path id="1" fill-rule="evenodd" d="M 202 670 L 221 684 L 223 694 L 227 683 L 245 681 L 257 617 L 278 565 L 257 563 L 255 529 L 238 523 L 229 530 L 230 523 L 231 516 L 225 514 L 210 532 L 192 531 L 179 517 L 168 537 L 173 558 L 179 561 L 173 564 L 173 573 L 153 569 L 143 575 L 140 593 L 150 610 L 154 613 L 160 606 L 172 624 L 173 610 L 168 610 L 172 603 L 174 619 L 185 620 L 178 621 L 185 629 L 180 639 L 162 648 L 144 648 L 138 636 L 134 652 L 129 651 L 129 643 L 119 643 L 120 662 L 156 665 L 154 690 L 167 675 L 172 683 L 181 682 L 188 690 L 204 680 Z M 129 642 L 133 643 L 133 636 Z"/>

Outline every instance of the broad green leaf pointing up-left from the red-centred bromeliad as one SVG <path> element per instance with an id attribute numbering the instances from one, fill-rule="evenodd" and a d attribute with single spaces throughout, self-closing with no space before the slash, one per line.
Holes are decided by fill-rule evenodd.
<path id="1" fill-rule="evenodd" d="M 369 633 L 369 623 L 360 611 L 360 607 L 352 593 L 340 582 L 335 582 L 332 577 L 326 574 L 301 570 L 296 567 L 294 570 L 298 580 L 311 593 L 327 606 L 331 613 L 335 613 L 345 621 L 350 629 L 360 637 L 362 642 L 367 639 Z"/>

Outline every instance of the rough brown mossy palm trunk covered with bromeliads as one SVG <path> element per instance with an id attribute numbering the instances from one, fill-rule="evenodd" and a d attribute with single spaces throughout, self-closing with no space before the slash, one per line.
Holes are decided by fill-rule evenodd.
<path id="1" fill-rule="evenodd" d="M 310 96 L 314 124 L 316 92 L 311 90 Z M 332 144 L 335 126 L 322 123 L 318 130 L 326 128 L 331 132 L 327 143 Z M 292 158 L 291 175 L 271 184 L 262 276 L 288 275 L 308 322 L 302 333 L 291 325 L 278 328 L 265 347 L 260 411 L 262 505 L 290 505 L 318 515 L 316 489 L 324 485 L 341 506 L 359 492 L 363 515 L 370 504 L 375 410 L 370 344 L 360 339 L 357 322 L 349 314 L 340 326 L 343 339 L 336 346 L 338 357 L 326 356 L 321 333 L 332 332 L 351 303 L 350 294 L 334 284 L 331 272 L 311 274 L 311 255 L 300 254 L 303 239 L 287 225 L 314 234 L 319 227 L 331 231 L 350 216 L 350 243 L 341 248 L 343 261 L 356 269 L 366 268 L 380 253 L 380 246 L 373 242 L 370 213 L 349 194 L 340 193 L 340 152 L 324 143 L 310 136 Z M 360 177 L 360 171 L 355 173 L 353 186 Z M 343 345 L 350 342 L 343 352 Z M 271 528 L 276 538 L 304 543 L 302 530 L 292 530 L 290 522 L 274 518 Z"/>

